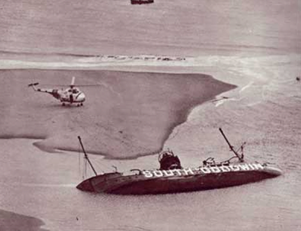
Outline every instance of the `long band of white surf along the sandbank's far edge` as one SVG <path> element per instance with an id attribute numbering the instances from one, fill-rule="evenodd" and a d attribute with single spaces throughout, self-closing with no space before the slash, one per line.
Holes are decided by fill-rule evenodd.
<path id="1" fill-rule="evenodd" d="M 46 57 L 47 58 L 47 57 Z M 0 69 L 15 68 L 75 68 L 90 69 L 101 67 L 118 67 L 118 66 L 158 66 L 158 67 L 216 67 L 227 68 L 235 73 L 241 73 L 252 79 L 267 80 L 267 76 L 263 76 L 262 63 L 265 66 L 275 64 L 275 59 L 281 63 L 294 62 L 300 59 L 300 55 L 269 55 L 263 57 L 243 57 L 238 55 L 222 56 L 222 55 L 203 55 L 203 56 L 167 56 L 167 55 L 96 55 L 93 57 L 73 57 L 62 56 L 60 62 L 51 61 L 50 57 L 47 61 L 33 61 L 30 57 L 26 60 L 0 60 Z M 274 63 L 273 63 L 274 62 Z M 296 61 L 297 62 L 297 61 Z M 267 70 L 269 71 L 269 70 Z M 269 78 L 268 78 L 269 79 Z"/>

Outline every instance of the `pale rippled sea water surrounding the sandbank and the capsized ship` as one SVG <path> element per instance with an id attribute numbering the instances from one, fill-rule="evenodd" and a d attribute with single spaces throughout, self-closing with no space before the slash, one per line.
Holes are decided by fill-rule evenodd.
<path id="1" fill-rule="evenodd" d="M 202 192 L 90 194 L 75 188 L 82 179 L 78 154 L 45 153 L 31 139 L 1 139 L 0 210 L 36 217 L 55 231 L 301 229 L 300 1 L 2 1 L 0 22 L 1 68 L 199 72 L 238 85 L 221 94 L 228 100 L 194 108 L 165 148 L 183 166 L 199 166 L 209 156 L 224 160 L 231 154 L 222 127 L 233 145 L 247 141 L 247 160 L 284 172 Z M 143 55 L 186 59 L 152 62 Z M 158 167 L 156 156 L 91 159 L 105 171 Z"/>

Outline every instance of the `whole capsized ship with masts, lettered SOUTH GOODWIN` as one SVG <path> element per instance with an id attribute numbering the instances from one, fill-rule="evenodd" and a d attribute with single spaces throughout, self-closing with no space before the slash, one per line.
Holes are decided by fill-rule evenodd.
<path id="1" fill-rule="evenodd" d="M 235 151 L 219 129 L 235 156 L 222 162 L 215 162 L 209 157 L 202 166 L 183 168 L 178 156 L 172 151 L 159 154 L 159 169 L 131 169 L 131 174 L 108 172 L 97 175 L 79 138 L 84 158 L 91 166 L 95 176 L 81 182 L 77 188 L 82 191 L 112 194 L 163 194 L 198 190 L 208 190 L 238 186 L 280 176 L 282 171 L 267 163 L 246 163 L 244 160 L 244 145 L 240 152 Z"/>

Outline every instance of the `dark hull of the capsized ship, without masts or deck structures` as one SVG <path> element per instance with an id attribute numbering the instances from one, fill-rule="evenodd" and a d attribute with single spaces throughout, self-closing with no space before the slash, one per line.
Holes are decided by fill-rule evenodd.
<path id="1" fill-rule="evenodd" d="M 238 167 L 228 169 L 230 170 L 226 171 L 225 167 L 207 168 L 206 171 L 205 168 L 177 169 L 173 176 L 170 176 L 172 171 L 165 171 L 163 174 L 153 171 L 156 176 L 152 174 L 150 177 L 148 172 L 131 176 L 118 175 L 110 179 L 106 175 L 99 175 L 83 181 L 77 188 L 96 193 L 163 194 L 238 186 L 281 175 L 279 168 L 269 166 L 247 170 Z"/>

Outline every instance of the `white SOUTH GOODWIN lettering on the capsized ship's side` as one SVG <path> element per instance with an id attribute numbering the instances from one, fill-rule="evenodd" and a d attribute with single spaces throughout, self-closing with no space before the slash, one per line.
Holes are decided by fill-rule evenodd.
<path id="1" fill-rule="evenodd" d="M 264 169 L 259 163 L 254 164 L 236 164 L 236 165 L 221 165 L 211 167 L 200 167 L 200 168 L 184 168 L 184 169 L 172 169 L 172 170 L 143 170 L 144 177 L 174 177 L 174 176 L 189 176 L 189 175 L 200 175 L 203 174 L 216 174 L 219 172 L 230 172 L 230 171 L 251 171 Z"/>

